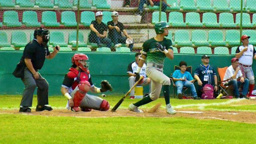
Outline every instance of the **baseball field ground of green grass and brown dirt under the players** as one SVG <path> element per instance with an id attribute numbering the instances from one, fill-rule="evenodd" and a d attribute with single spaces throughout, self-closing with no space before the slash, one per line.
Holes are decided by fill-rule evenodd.
<path id="1" fill-rule="evenodd" d="M 113 107 L 121 96 L 107 96 Z M 0 144 L 4 143 L 256 143 L 256 101 L 245 99 L 171 99 L 177 111 L 165 112 L 160 98 L 141 107 L 137 114 L 126 110 L 138 99 L 126 99 L 117 112 L 70 112 L 62 96 L 49 97 L 53 111 L 19 113 L 21 96 L 0 95 Z M 148 110 L 162 103 L 156 113 Z"/>

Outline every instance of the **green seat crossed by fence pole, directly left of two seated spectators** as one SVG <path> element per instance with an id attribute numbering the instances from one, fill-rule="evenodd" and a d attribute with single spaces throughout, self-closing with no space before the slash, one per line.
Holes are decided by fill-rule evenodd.
<path id="1" fill-rule="evenodd" d="M 69 33 L 68 44 L 72 45 L 72 47 L 76 47 L 76 31 Z M 87 47 L 87 44 L 84 42 L 84 36 L 82 32 L 78 32 L 78 47 Z"/>

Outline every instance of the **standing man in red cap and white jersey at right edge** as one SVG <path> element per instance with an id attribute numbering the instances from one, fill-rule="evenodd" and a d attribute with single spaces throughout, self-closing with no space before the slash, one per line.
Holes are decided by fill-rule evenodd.
<path id="1" fill-rule="evenodd" d="M 237 47 L 236 58 L 239 59 L 239 68 L 243 74 L 243 77 L 249 79 L 249 97 L 255 96 L 252 94 L 254 89 L 254 74 L 252 71 L 252 60 L 256 60 L 256 51 L 253 45 L 249 44 L 250 36 L 243 35 L 241 37 L 243 45 Z"/>

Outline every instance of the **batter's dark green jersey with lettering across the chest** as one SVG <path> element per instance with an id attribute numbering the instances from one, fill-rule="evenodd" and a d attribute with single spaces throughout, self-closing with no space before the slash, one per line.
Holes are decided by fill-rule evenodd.
<path id="1" fill-rule="evenodd" d="M 162 46 L 165 46 L 165 49 L 172 49 L 172 41 L 170 39 L 164 38 L 163 41 L 156 41 L 154 38 L 151 38 L 145 41 L 142 45 L 143 51 L 147 53 L 147 63 L 154 63 L 158 65 L 164 64 L 165 54 L 159 51 L 155 43 L 159 42 Z M 173 49 L 172 49 L 173 50 Z"/>

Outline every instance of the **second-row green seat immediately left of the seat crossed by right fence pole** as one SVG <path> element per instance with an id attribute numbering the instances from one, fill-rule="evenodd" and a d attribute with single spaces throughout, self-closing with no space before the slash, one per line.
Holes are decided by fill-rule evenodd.
<path id="1" fill-rule="evenodd" d="M 220 13 L 219 23 L 222 27 L 236 27 L 232 13 Z"/>

